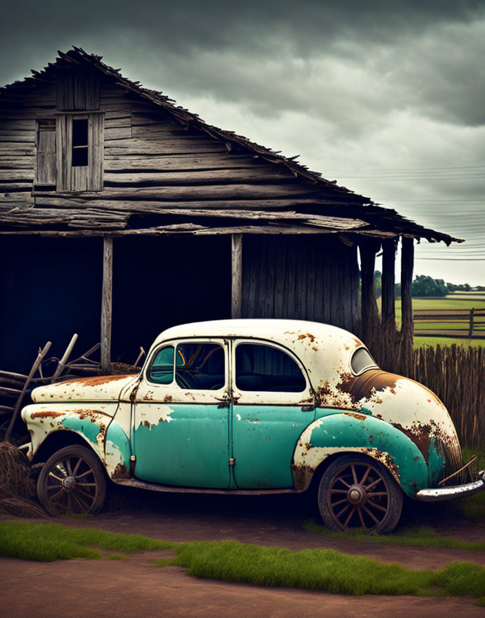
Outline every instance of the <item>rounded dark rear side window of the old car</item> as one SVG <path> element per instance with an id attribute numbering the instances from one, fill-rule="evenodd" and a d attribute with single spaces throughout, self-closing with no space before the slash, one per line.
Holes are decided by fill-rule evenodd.
<path id="1" fill-rule="evenodd" d="M 307 381 L 287 352 L 260 343 L 236 347 L 236 388 L 249 391 L 302 392 Z"/>

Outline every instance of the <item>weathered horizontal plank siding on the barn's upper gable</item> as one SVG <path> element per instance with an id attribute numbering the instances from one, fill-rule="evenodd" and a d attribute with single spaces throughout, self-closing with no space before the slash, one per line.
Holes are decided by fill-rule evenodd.
<path id="1" fill-rule="evenodd" d="M 271 165 L 200 130 L 181 126 L 162 108 L 127 92 L 110 78 L 103 77 L 100 92 L 99 112 L 104 114 L 105 127 L 104 190 L 63 193 L 44 186 L 35 195 L 35 206 L 153 212 L 154 208 L 187 208 L 196 201 L 198 208 L 237 205 L 262 210 L 291 208 L 303 200 L 308 203 L 316 195 L 311 183 L 296 179 L 284 166 Z M 2 210 L 34 205 L 31 194 L 37 171 L 37 122 L 55 118 L 57 104 L 55 84 L 25 88 L 25 92 L 3 99 Z M 40 146 L 42 152 L 45 146 Z M 58 150 L 60 146 L 58 139 Z M 68 153 L 59 155 L 58 182 L 62 173 L 59 160 Z M 39 180 L 45 183 L 45 178 Z"/>

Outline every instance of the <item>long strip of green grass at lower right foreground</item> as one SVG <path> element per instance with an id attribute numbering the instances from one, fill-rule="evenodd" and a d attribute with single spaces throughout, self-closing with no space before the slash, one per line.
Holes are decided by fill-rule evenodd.
<path id="1" fill-rule="evenodd" d="M 453 562 L 432 572 L 331 549 L 291 551 L 238 541 L 192 541 L 174 551 L 175 558 L 157 560 L 156 566 L 184 566 L 194 577 L 340 595 L 485 596 L 485 568 L 473 562 Z"/>

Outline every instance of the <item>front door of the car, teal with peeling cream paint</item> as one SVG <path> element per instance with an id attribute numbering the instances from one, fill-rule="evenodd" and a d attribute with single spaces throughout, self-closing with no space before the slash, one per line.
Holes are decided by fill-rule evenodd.
<path id="1" fill-rule="evenodd" d="M 229 486 L 228 349 L 223 339 L 185 339 L 153 350 L 134 397 L 138 479 Z"/>

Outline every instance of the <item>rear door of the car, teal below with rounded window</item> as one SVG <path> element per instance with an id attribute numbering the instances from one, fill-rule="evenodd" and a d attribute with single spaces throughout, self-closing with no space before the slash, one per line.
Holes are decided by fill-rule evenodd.
<path id="1" fill-rule="evenodd" d="M 241 489 L 291 488 L 291 461 L 315 418 L 309 379 L 290 350 L 236 339 L 231 350 L 234 479 Z"/>

